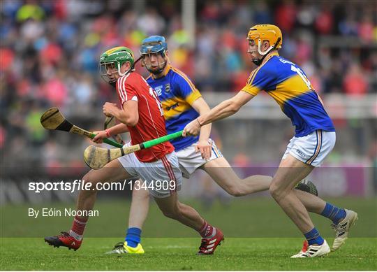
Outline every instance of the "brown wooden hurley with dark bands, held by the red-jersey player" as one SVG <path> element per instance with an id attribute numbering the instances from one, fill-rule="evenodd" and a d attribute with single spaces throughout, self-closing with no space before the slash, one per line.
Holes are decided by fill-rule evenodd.
<path id="1" fill-rule="evenodd" d="M 94 138 L 94 136 L 96 136 L 94 133 L 71 124 L 71 122 L 66 120 L 66 118 L 60 113 L 59 108 L 50 108 L 49 110 L 46 110 L 40 117 L 40 124 L 42 124 L 45 129 L 67 131 L 74 134 L 84 135 L 88 138 Z M 115 148 L 121 148 L 123 146 L 108 138 L 103 139 L 103 142 L 108 143 Z"/>

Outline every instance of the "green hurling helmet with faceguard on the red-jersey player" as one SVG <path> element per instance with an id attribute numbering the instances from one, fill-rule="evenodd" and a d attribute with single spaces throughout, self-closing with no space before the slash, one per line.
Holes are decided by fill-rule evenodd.
<path id="1" fill-rule="evenodd" d="M 121 73 L 121 66 L 125 62 L 131 64 L 130 69 Z M 125 46 L 118 46 L 116 48 L 111 48 L 104 52 L 100 57 L 99 69 L 101 73 L 101 78 L 107 83 L 114 83 L 117 81 L 117 78 L 112 78 L 112 73 L 119 73 L 119 76 L 126 76 L 127 73 L 134 70 L 135 59 L 133 58 L 133 52 L 131 49 L 126 48 Z M 108 69 L 116 69 L 112 73 L 108 73 Z"/>

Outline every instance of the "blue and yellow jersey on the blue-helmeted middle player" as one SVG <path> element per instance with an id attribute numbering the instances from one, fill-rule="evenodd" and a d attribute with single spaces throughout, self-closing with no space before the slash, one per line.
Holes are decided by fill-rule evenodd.
<path id="1" fill-rule="evenodd" d="M 199 116 L 191 105 L 202 95 L 182 71 L 167 65 L 165 76 L 156 79 L 149 76 L 147 83 L 154 89 L 161 101 L 166 131 L 171 134 L 184 129 L 186 124 Z M 179 151 L 196 141 L 198 141 L 198 136 L 180 137 L 170 143 L 174 145 L 176 151 Z"/>

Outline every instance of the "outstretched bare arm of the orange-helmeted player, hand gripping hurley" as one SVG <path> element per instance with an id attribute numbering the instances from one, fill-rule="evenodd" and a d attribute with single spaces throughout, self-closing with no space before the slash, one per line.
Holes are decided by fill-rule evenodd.
<path id="1" fill-rule="evenodd" d="M 200 115 L 196 120 L 189 122 L 184 128 L 183 136 L 198 135 L 200 127 L 205 124 L 212 123 L 216 120 L 234 115 L 237 111 L 249 102 L 254 96 L 247 92 L 239 92 L 231 99 L 219 103 L 216 107 L 209 110 L 204 115 Z"/>

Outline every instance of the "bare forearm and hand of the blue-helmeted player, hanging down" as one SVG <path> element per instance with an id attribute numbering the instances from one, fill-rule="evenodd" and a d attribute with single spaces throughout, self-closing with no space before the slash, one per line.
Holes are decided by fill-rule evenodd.
<path id="1" fill-rule="evenodd" d="M 200 115 L 208 113 L 209 108 L 207 102 L 202 98 L 196 99 L 191 105 Z M 209 135 L 211 134 L 211 124 L 206 124 L 200 128 L 200 136 L 198 145 L 195 146 L 196 152 L 200 152 L 203 159 L 209 159 L 211 157 L 212 144 L 209 143 Z"/>

